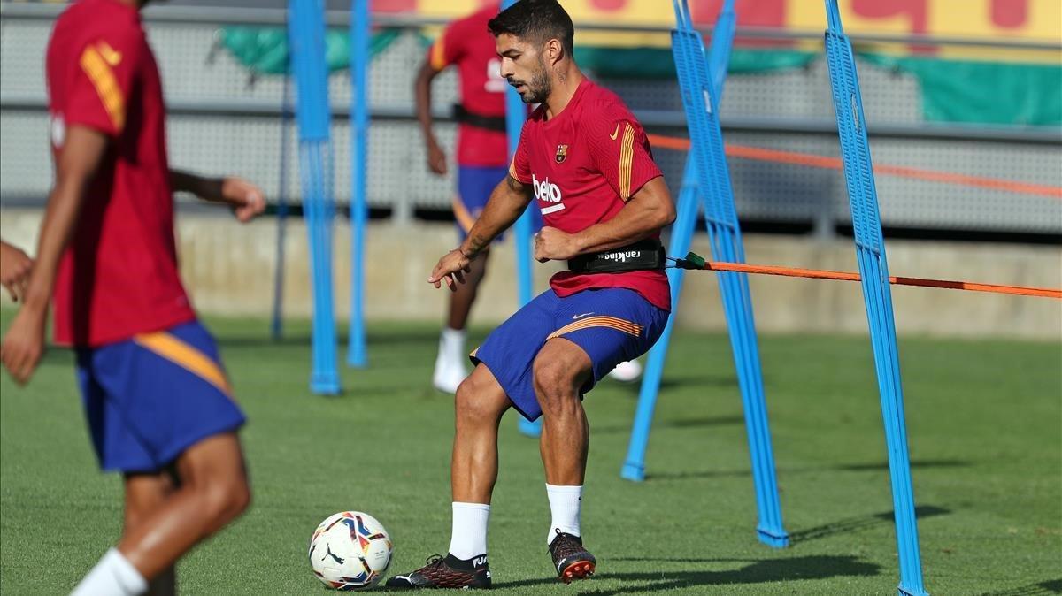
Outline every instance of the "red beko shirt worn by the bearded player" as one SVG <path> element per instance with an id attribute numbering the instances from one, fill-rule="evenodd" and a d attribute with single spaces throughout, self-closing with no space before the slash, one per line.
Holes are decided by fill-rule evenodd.
<path id="1" fill-rule="evenodd" d="M 589 80 L 553 118 L 546 119 L 545 106 L 531 115 L 509 173 L 532 186 L 546 225 L 568 233 L 613 218 L 646 182 L 662 175 L 638 121 L 615 93 Z M 626 287 L 657 308 L 671 309 L 667 276 L 658 269 L 561 271 L 549 284 L 562 298 L 583 290 Z"/>

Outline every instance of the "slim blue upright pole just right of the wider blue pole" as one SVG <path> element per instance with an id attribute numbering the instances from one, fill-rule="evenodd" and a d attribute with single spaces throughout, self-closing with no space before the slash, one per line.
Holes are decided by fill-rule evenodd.
<path id="1" fill-rule="evenodd" d="M 369 158 L 369 0 L 350 2 L 350 326 L 346 364 L 364 368 L 365 218 Z"/>

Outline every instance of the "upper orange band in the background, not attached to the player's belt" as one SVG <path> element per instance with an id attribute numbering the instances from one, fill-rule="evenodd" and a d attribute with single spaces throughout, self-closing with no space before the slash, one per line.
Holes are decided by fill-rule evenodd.
<path id="1" fill-rule="evenodd" d="M 649 142 L 653 146 L 675 151 L 689 151 L 689 139 L 678 137 L 664 137 L 661 135 L 649 135 Z M 838 157 L 826 157 L 822 155 L 811 155 L 791 151 L 768 150 L 763 147 L 750 147 L 746 145 L 727 144 L 726 155 L 742 159 L 754 159 L 757 161 L 772 161 L 775 163 L 790 163 L 793 165 L 807 165 L 809 168 L 823 168 L 827 170 L 840 170 L 841 159 Z M 965 187 L 976 187 L 981 189 L 1001 190 L 1021 194 L 1033 194 L 1039 196 L 1049 196 L 1062 198 L 1062 187 L 1048 187 L 1045 185 L 1031 185 L 1027 182 L 1016 182 L 1013 180 L 1003 180 L 999 178 L 984 178 L 981 176 L 967 176 L 953 172 L 937 172 L 933 170 L 920 170 L 918 168 L 905 168 L 902 165 L 875 165 L 874 172 L 901 178 L 914 178 L 928 180 L 931 182 L 946 182 L 961 185 Z"/>

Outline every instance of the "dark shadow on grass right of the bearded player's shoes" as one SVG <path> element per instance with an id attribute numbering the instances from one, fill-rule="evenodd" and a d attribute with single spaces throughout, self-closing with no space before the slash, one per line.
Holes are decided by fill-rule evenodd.
<path id="1" fill-rule="evenodd" d="M 643 559 L 616 559 L 637 561 Z M 663 559 L 666 561 L 686 561 L 683 559 Z M 733 559 L 689 559 L 696 562 L 718 562 Z M 875 563 L 860 561 L 856 557 L 846 556 L 813 556 L 794 557 L 791 559 L 767 559 L 753 561 L 750 564 L 732 571 L 723 572 L 640 572 L 640 573 L 605 573 L 602 579 L 623 582 L 638 582 L 636 585 L 619 588 L 593 588 L 581 584 L 580 594 L 645 594 L 663 592 L 681 588 L 698 585 L 726 585 L 734 583 L 766 583 L 773 581 L 792 581 L 800 579 L 828 579 L 832 577 L 875 576 L 880 573 L 880 566 Z M 519 588 L 539 584 L 554 584 L 555 578 L 529 579 L 512 582 L 498 582 L 496 588 Z M 584 588 L 585 585 L 585 588 Z"/>

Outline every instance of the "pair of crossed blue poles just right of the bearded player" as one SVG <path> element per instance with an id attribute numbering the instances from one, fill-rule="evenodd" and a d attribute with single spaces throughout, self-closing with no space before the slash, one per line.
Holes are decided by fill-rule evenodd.
<path id="1" fill-rule="evenodd" d="M 703 198 L 705 224 L 714 258 L 719 261 L 743 263 L 741 229 L 734 207 L 734 192 L 717 116 L 734 38 L 734 1 L 726 0 L 723 3 L 713 33 L 712 53 L 707 59 L 701 35 L 693 28 L 687 1 L 672 0 L 672 4 L 676 21 L 676 29 L 671 32 L 672 52 L 692 151 L 687 158 L 683 190 L 679 197 L 679 216 L 672 228 L 671 253 L 683 255 L 688 250 L 697 218 L 696 198 L 699 189 Z M 646 446 L 673 325 L 673 313 L 682 287 L 682 273 L 672 269 L 669 275 L 672 282 L 672 316 L 668 320 L 665 335 L 650 352 L 631 431 L 627 461 L 620 474 L 631 480 L 645 478 Z M 758 511 L 756 533 L 760 542 L 773 547 L 784 547 L 789 543 L 789 534 L 782 525 L 782 508 L 778 503 L 774 454 L 767 423 L 759 347 L 756 340 L 748 276 L 719 273 L 718 279 L 730 330 L 731 349 L 737 368 L 738 386 L 744 406 L 746 431 L 749 435 L 749 452 Z"/>

